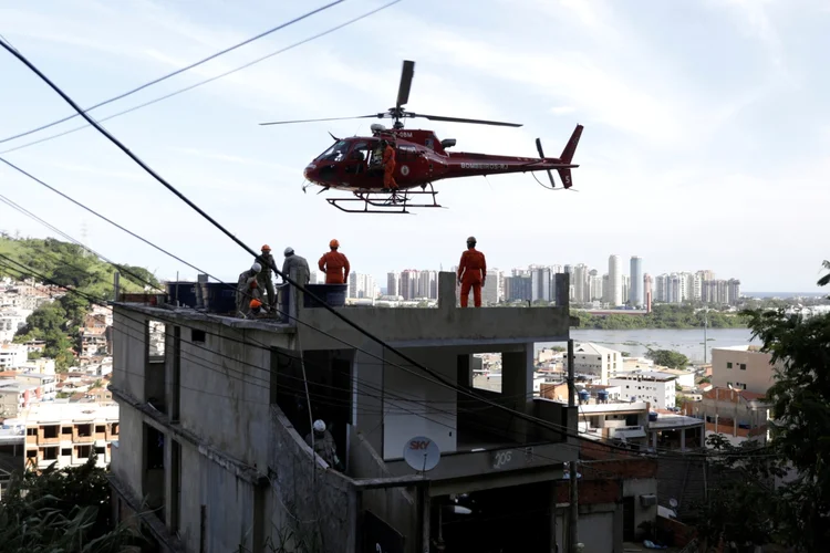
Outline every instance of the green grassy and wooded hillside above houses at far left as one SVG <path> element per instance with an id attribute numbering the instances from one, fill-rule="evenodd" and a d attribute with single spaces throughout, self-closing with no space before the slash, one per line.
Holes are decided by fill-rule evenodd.
<path id="1" fill-rule="evenodd" d="M 65 371 L 74 364 L 75 352 L 80 351 L 80 328 L 90 310 L 90 300 L 112 299 L 116 269 L 92 254 L 84 255 L 84 250 L 75 244 L 51 238 L 13 239 L 0 236 L 0 254 L 32 271 L 25 274 L 22 269 L 10 269 L 12 263 L 0 258 L 0 276 L 32 276 L 39 282 L 52 281 L 77 292 L 66 293 L 54 302 L 41 305 L 29 315 L 27 325 L 14 336 L 14 342 L 19 343 L 44 340 L 44 355 L 55 359 L 59 371 Z M 127 264 L 118 267 L 120 284 L 124 292 L 141 292 L 149 284 L 159 285 L 146 269 Z"/>

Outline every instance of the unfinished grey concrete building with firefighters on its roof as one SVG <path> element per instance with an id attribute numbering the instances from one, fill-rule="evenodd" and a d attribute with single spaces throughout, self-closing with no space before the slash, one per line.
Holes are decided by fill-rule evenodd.
<path id="1" fill-rule="evenodd" d="M 556 307 L 464 310 L 455 274 L 442 272 L 437 309 L 336 309 L 461 392 L 301 295 L 287 324 L 115 304 L 118 517 L 137 517 L 162 551 L 259 553 L 284 540 L 295 551 L 551 551 L 554 483 L 567 486 L 563 462 L 579 453 L 564 432 L 577 408 L 533 398 L 533 343 L 568 340 L 567 295 Z M 470 357 L 494 352 L 501 392 L 477 396 L 556 430 L 466 394 Z M 343 472 L 305 442 L 318 418 Z M 415 437 L 440 449 L 427 472 L 404 460 Z"/>

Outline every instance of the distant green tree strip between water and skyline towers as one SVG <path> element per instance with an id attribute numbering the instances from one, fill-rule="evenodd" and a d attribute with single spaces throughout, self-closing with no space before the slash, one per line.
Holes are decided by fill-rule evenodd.
<path id="1" fill-rule="evenodd" d="M 707 320 L 709 328 L 739 328 L 746 326 L 746 319 L 715 310 L 695 310 L 692 305 L 660 304 L 644 315 L 592 315 L 584 311 L 572 313 L 579 317 L 579 328 L 623 331 L 636 328 L 702 328 Z"/>

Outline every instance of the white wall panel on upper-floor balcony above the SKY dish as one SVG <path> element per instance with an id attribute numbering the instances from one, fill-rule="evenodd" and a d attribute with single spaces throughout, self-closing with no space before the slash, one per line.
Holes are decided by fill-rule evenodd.
<path id="1" fill-rule="evenodd" d="M 404 353 L 450 382 L 456 382 L 456 353 L 437 348 L 405 349 Z M 390 362 L 409 372 L 391 365 L 377 367 L 384 375 L 383 458 L 400 459 L 404 455 L 404 445 L 416 436 L 435 441 L 442 453 L 455 451 L 457 393 L 426 380 L 422 371 L 409 367 L 407 362 L 394 354 L 386 355 Z"/>

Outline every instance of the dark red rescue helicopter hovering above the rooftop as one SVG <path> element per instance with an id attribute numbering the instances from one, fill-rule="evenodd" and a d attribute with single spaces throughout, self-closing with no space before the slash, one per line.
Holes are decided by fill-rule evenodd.
<path id="1" fill-rule="evenodd" d="M 536 139 L 538 158 L 499 156 L 489 154 L 473 154 L 465 152 L 447 152 L 456 145 L 455 138 L 439 140 L 434 132 L 425 129 L 406 129 L 403 121 L 422 117 L 429 121 L 450 123 L 468 123 L 478 125 L 495 125 L 505 127 L 520 127 L 518 123 L 504 123 L 486 119 L 470 119 L 461 117 L 446 117 L 407 112 L 403 106 L 409 101 L 409 90 L 415 74 L 415 62 L 405 60 L 401 73 L 395 107 L 386 112 L 359 115 L 356 117 L 328 117 L 319 119 L 295 119 L 260 123 L 260 125 L 284 125 L 294 123 L 314 123 L 323 121 L 345 121 L 365 118 L 391 118 L 391 128 L 380 123 L 370 126 L 371 137 L 353 136 L 338 138 L 331 133 L 334 144 L 317 156 L 304 169 L 302 190 L 311 185 L 318 185 L 322 194 L 326 190 L 344 190 L 353 197 L 325 198 L 326 201 L 349 213 L 409 213 L 408 208 L 440 208 L 436 201 L 433 184 L 437 180 L 459 177 L 505 175 L 512 173 L 547 171 L 550 187 L 536 180 L 544 188 L 569 189 L 573 186 L 571 169 L 579 167 L 572 164 L 577 150 L 582 125 L 577 125 L 562 154 L 559 157 L 544 157 L 542 144 Z M 382 163 L 385 144 L 395 150 L 395 169 L 393 178 L 397 188 L 384 188 L 384 168 Z M 562 180 L 563 188 L 557 189 L 553 174 L 556 170 Z M 533 178 L 536 176 L 533 175 Z M 417 198 L 427 198 L 424 204 Z M 428 201 L 432 200 L 432 204 Z M 355 202 L 363 204 L 362 208 L 352 208 Z"/>

